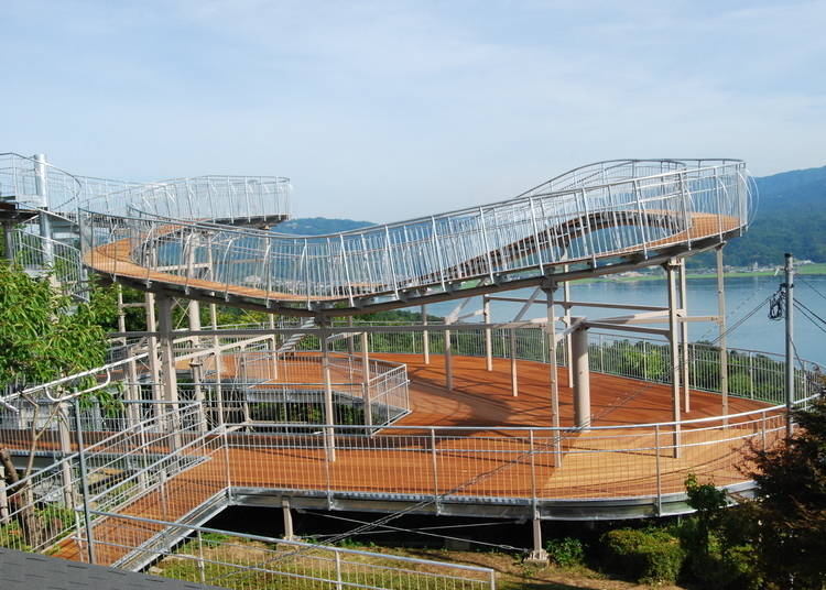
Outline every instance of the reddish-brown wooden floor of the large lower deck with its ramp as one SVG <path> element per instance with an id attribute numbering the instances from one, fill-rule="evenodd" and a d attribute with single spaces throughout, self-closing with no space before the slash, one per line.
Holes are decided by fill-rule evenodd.
<path id="1" fill-rule="evenodd" d="M 444 386 L 443 358 L 425 365 L 420 356 L 376 354 L 406 362 L 413 412 L 392 428 L 366 436 L 363 429 L 336 433 L 335 460 L 328 459 L 320 431 L 284 434 L 237 425 L 215 438 L 215 450 L 198 465 L 170 479 L 123 514 L 195 524 L 204 503 L 317 510 L 358 510 L 422 514 L 460 514 L 522 518 L 593 520 L 662 514 L 687 510 L 684 481 L 702 481 L 735 490 L 750 489 L 741 469 L 750 444 L 771 445 L 782 435 L 783 417 L 762 422 L 733 418 L 695 424 L 681 433 L 678 458 L 667 427 L 569 430 L 557 436 L 541 429 L 551 423 L 548 367 L 519 361 L 519 396 L 512 395 L 510 362 L 454 358 L 454 392 Z M 572 392 L 559 370 L 561 419 L 572 423 Z M 591 404 L 596 426 L 663 422 L 671 417 L 671 390 L 635 380 L 594 374 Z M 732 413 L 768 407 L 732 398 Z M 718 415 L 720 397 L 692 393 L 684 418 Z M 761 414 L 758 414 L 760 416 Z M 774 420 L 774 422 L 772 422 Z M 445 427 L 432 429 L 434 425 Z M 464 430 L 464 427 L 478 428 Z M 532 427 L 533 430 L 519 429 Z M 185 441 L 184 441 L 185 442 Z M 211 445 L 211 444 L 210 444 Z M 210 447 L 211 448 L 211 447 Z M 154 449 L 162 450 L 162 449 Z M 657 473 L 660 474 L 657 481 Z M 229 493 L 225 494 L 229 482 Z M 209 512 L 211 513 L 211 512 Z M 205 514 L 207 514 L 205 512 Z M 118 525 L 121 526 L 121 525 Z M 122 531 L 106 520 L 96 539 L 116 539 Z M 152 526 L 141 533 L 149 539 Z M 115 562 L 126 550 L 99 550 L 100 562 Z M 57 555 L 83 559 L 83 548 L 62 543 Z"/>

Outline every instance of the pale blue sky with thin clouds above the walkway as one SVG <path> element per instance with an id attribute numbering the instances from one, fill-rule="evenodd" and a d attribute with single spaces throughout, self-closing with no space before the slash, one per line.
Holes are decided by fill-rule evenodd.
<path id="1" fill-rule="evenodd" d="M 826 2 L 3 0 L 0 151 L 395 221 L 622 157 L 826 164 Z"/>

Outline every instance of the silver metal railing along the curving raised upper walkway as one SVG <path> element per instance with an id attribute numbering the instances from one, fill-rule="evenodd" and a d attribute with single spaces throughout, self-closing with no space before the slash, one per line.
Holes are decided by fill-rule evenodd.
<path id="1" fill-rule="evenodd" d="M 110 274 L 313 303 L 648 255 L 745 227 L 742 162 L 669 161 L 665 168 L 627 161 L 611 168 L 608 184 L 540 187 L 491 205 L 307 238 L 210 227 L 186 211 L 159 218 L 89 206 L 83 250 L 88 264 Z"/>

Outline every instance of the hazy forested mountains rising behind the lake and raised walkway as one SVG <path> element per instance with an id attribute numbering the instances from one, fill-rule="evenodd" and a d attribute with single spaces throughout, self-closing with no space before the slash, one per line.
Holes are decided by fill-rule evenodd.
<path id="1" fill-rule="evenodd" d="M 733 266 L 780 264 L 785 252 L 798 260 L 826 262 L 826 166 L 754 178 L 759 198 L 753 221 L 726 248 Z M 371 226 L 369 221 L 313 217 L 292 219 L 273 228 L 279 233 L 318 236 Z M 691 259 L 693 266 L 711 265 L 710 254 Z"/>

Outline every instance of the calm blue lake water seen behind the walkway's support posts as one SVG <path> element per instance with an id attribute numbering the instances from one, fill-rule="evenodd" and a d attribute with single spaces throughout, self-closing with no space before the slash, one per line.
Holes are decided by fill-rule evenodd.
<path id="1" fill-rule="evenodd" d="M 778 289 L 783 281 L 779 276 L 750 276 L 726 280 L 726 312 L 731 326 L 751 312 L 760 302 Z M 816 289 L 816 291 L 815 291 Z M 533 289 L 509 293 L 529 297 Z M 817 315 L 826 319 L 826 276 L 798 276 L 795 281 L 795 298 L 803 302 Z M 517 295 L 518 294 L 518 295 Z M 665 306 L 669 304 L 665 281 L 609 282 L 572 284 L 572 301 L 628 303 Z M 453 302 L 428 306 L 428 313 L 447 315 L 456 306 Z M 463 314 L 481 307 L 481 298 L 476 298 L 465 307 Z M 507 321 L 519 312 L 521 304 L 492 302 L 491 315 L 494 321 Z M 558 308 L 557 308 L 558 309 Z M 593 307 L 574 308 L 574 315 L 599 317 L 622 316 L 630 312 L 622 309 L 598 309 Z M 688 314 L 708 316 L 717 313 L 717 281 L 715 278 L 693 278 L 688 281 Z M 535 305 L 525 318 L 544 317 L 545 307 Z M 826 334 L 795 310 L 795 346 L 802 359 L 826 364 Z M 826 329 L 826 327 L 825 327 Z M 714 340 L 717 325 L 713 323 L 689 324 L 692 340 Z M 742 326 L 728 335 L 728 346 L 765 352 L 784 353 L 784 321 L 769 319 L 769 306 L 764 304 Z"/>

